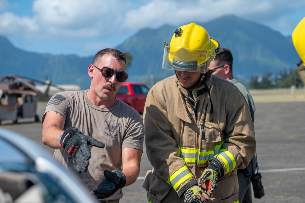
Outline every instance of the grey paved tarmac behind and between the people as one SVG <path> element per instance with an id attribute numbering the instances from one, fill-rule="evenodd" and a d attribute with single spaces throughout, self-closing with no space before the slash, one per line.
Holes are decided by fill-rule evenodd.
<path id="1" fill-rule="evenodd" d="M 252 195 L 253 203 L 305 202 L 305 102 L 256 103 L 255 106 L 256 151 L 265 196 L 256 199 Z M 43 104 L 38 106 L 39 118 L 44 108 Z M 53 153 L 53 149 L 41 142 L 41 122 L 31 119 L 18 122 L 3 122 L 0 127 L 21 133 Z M 144 150 L 139 178 L 123 188 L 122 203 L 147 202 L 142 183 L 150 169 Z"/>

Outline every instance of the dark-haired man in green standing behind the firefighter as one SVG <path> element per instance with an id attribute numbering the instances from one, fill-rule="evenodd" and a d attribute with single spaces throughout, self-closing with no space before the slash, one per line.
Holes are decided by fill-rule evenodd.
<path id="1" fill-rule="evenodd" d="M 233 76 L 233 56 L 229 49 L 220 48 L 219 52 L 216 54 L 214 61 L 210 66 L 210 71 L 213 75 L 217 75 L 220 78 L 223 78 L 227 81 L 232 82 L 239 91 L 244 95 L 251 113 L 252 122 L 254 122 L 254 111 L 255 106 L 252 99 L 252 96 L 249 90 L 236 78 Z M 252 160 L 250 161 L 248 167 L 246 169 L 238 169 L 238 185 L 239 185 L 239 193 L 238 199 L 240 203 L 252 203 L 252 193 L 251 193 L 251 185 L 250 179 L 247 178 L 246 174 L 252 175 L 252 171 L 255 171 L 256 168 L 256 156 L 254 154 Z"/>

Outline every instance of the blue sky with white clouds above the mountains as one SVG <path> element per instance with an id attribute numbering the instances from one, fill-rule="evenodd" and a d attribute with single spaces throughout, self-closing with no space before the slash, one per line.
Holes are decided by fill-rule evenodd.
<path id="1" fill-rule="evenodd" d="M 0 35 L 17 48 L 93 56 L 140 29 L 234 14 L 291 36 L 304 0 L 0 0 Z"/>

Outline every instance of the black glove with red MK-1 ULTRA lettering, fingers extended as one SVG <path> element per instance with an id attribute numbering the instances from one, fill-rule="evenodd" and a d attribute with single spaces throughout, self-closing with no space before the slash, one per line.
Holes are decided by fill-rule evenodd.
<path id="1" fill-rule="evenodd" d="M 76 127 L 65 130 L 61 136 L 60 144 L 64 148 L 68 161 L 76 172 L 86 172 L 88 170 L 91 152 L 88 145 L 103 148 L 105 144 L 91 136 L 84 135 Z"/>

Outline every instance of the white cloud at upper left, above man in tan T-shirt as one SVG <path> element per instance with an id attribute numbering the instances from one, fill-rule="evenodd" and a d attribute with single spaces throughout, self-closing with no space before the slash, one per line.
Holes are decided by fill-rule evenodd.
<path id="1" fill-rule="evenodd" d="M 0 34 L 51 39 L 103 37 L 120 26 L 123 8 L 117 0 L 36 0 L 33 17 L 0 13 Z"/>

